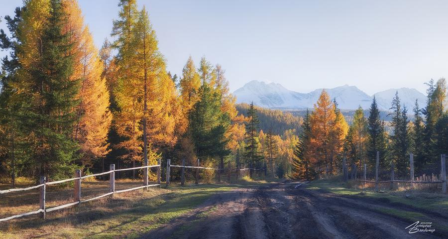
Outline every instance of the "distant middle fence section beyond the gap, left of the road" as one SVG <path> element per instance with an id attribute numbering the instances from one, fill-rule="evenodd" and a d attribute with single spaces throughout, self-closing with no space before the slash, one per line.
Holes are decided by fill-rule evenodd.
<path id="1" fill-rule="evenodd" d="M 207 167 L 201 167 L 199 166 L 199 159 L 198 159 L 198 166 L 185 166 L 185 159 L 182 160 L 182 165 L 173 165 L 171 164 L 171 160 L 167 159 L 166 162 L 166 186 L 170 186 L 170 168 L 171 167 L 178 167 L 181 168 L 181 186 L 185 185 L 185 169 L 186 168 L 195 168 L 196 169 L 196 178 L 195 178 L 195 184 L 199 183 L 199 170 L 200 169 L 209 169 L 209 170 L 218 170 L 218 181 L 221 181 L 221 174 L 224 170 L 227 170 L 227 177 L 228 180 L 230 181 L 230 172 L 231 171 L 236 171 L 236 180 L 238 180 L 238 176 L 239 176 L 239 172 L 241 171 L 245 171 L 245 170 L 254 170 L 254 171 L 264 171 L 264 175 L 266 176 L 266 167 L 265 168 L 261 168 L 261 169 L 257 169 L 257 168 L 242 168 L 242 169 L 238 169 L 238 168 L 207 168 Z"/>

